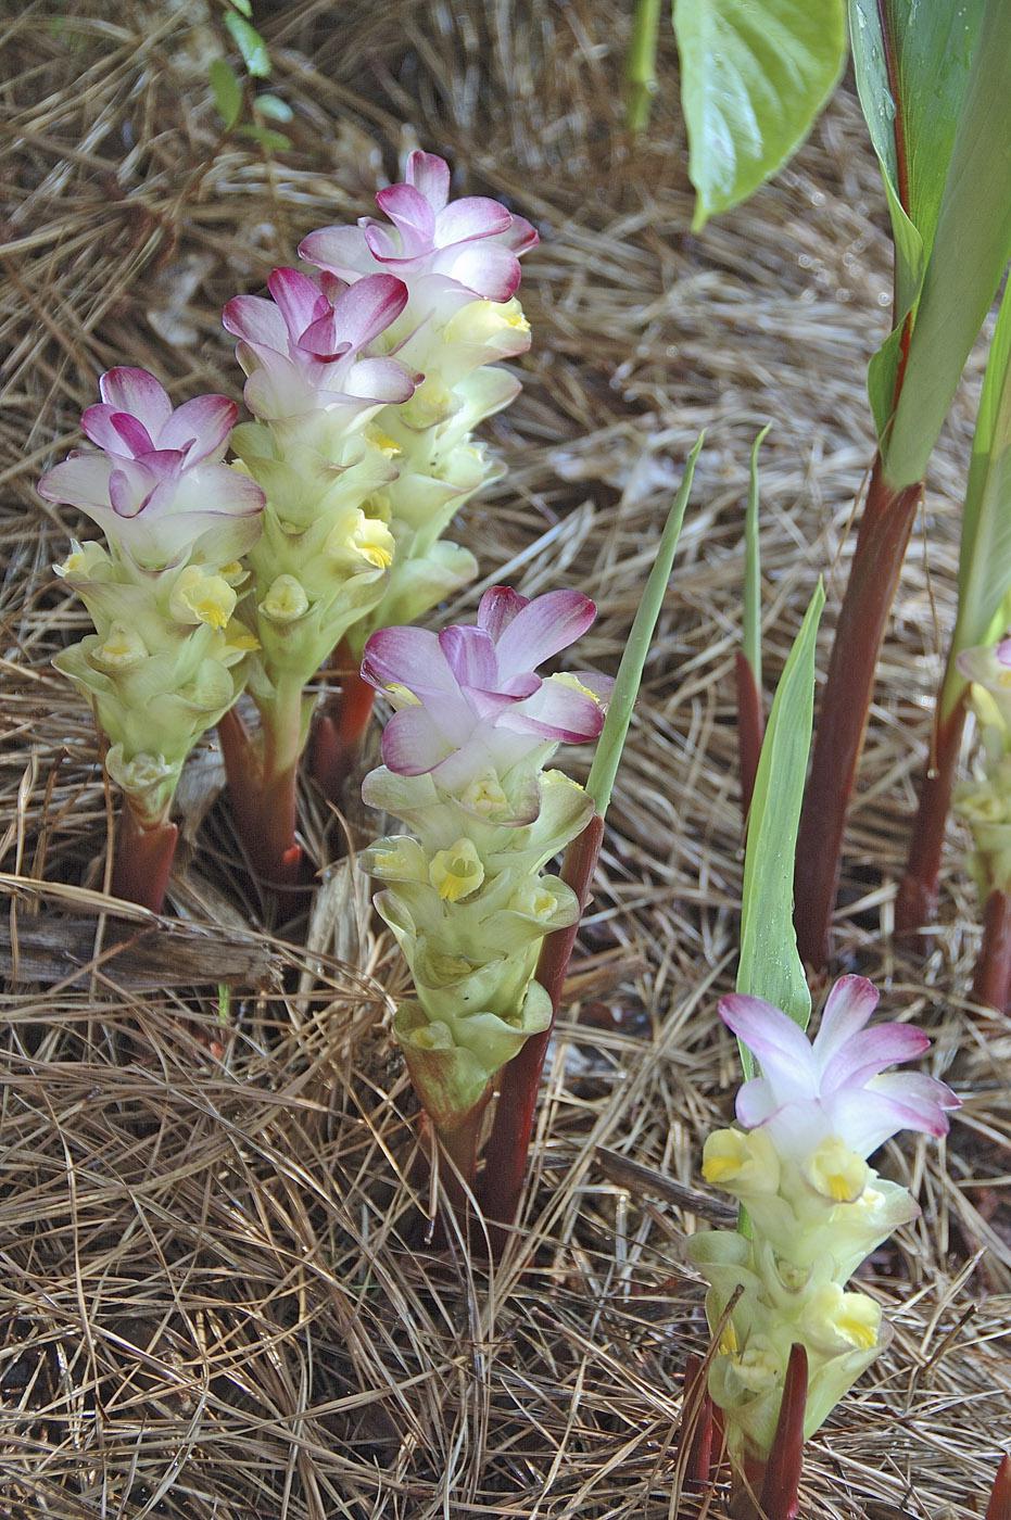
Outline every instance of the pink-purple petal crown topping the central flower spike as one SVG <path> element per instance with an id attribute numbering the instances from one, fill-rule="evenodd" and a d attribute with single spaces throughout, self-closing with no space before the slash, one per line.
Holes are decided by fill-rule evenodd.
<path id="1" fill-rule="evenodd" d="M 497 585 L 482 596 L 476 626 L 372 634 L 362 675 L 397 708 L 383 731 L 386 766 L 398 775 L 432 772 L 452 789 L 480 772 L 502 775 L 543 746 L 596 739 L 611 682 L 537 675 L 594 617 L 579 591 L 529 600 Z"/>

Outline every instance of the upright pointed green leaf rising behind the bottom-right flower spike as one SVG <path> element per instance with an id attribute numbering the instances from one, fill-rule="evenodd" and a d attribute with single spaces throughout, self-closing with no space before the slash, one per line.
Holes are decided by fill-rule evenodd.
<path id="1" fill-rule="evenodd" d="M 754 783 L 740 906 L 737 991 L 781 1008 L 801 1029 L 810 1018 L 807 977 L 794 932 L 794 859 L 815 710 L 815 640 L 826 605 L 810 599 L 775 690 Z M 745 1075 L 754 1061 L 742 1049 Z"/>

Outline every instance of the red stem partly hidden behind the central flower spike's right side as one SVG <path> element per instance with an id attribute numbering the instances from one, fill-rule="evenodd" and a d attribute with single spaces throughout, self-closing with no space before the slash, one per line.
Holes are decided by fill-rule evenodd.
<path id="1" fill-rule="evenodd" d="M 561 879 L 573 889 L 584 909 L 590 898 L 590 882 L 601 854 L 602 839 L 604 818 L 594 813 L 579 838 L 566 851 Z M 502 1073 L 482 1189 L 485 1218 L 493 1225 L 490 1233 L 494 1252 L 502 1251 L 508 1239 L 506 1227 L 514 1222 L 520 1207 L 541 1070 L 561 1005 L 578 930 L 579 924 L 575 923 L 569 929 L 556 929 L 544 941 L 535 974 L 552 1000 L 552 1023 L 543 1034 L 531 1035 Z"/>

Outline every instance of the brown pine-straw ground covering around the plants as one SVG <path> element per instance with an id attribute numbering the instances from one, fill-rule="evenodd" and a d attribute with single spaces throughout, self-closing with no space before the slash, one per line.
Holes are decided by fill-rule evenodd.
<path id="1" fill-rule="evenodd" d="M 696 1184 L 737 1079 L 715 1008 L 740 894 L 746 461 L 771 421 L 771 687 L 818 575 L 830 606 L 841 591 L 871 458 L 864 371 L 888 322 L 888 245 L 854 97 L 839 93 L 774 187 L 690 236 L 670 47 L 648 141 L 632 152 L 622 134 L 625 6 L 261 3 L 295 109 L 274 160 L 216 123 L 219 8 L 5 9 L 0 1512 L 693 1515 L 675 1436 L 684 1356 L 705 1347 L 683 1260 L 704 1205 L 669 1184 Z M 403 971 L 347 863 L 360 804 L 342 818 L 306 789 L 319 885 L 309 906 L 278 903 L 249 883 L 208 745 L 185 780 L 169 918 L 103 918 L 113 801 L 90 714 L 49 663 L 84 628 L 50 570 L 81 524 L 33 492 L 111 365 L 146 365 L 179 397 L 237 395 L 223 301 L 312 226 L 368 210 L 415 144 L 541 230 L 525 392 L 493 429 L 509 473 L 464 537 L 488 582 L 596 597 L 585 663 L 614 669 L 708 430 L 521 1231 L 491 1277 L 473 1242 L 421 1242 L 438 1189 L 389 1038 Z M 810 1447 L 818 1517 L 981 1514 L 1008 1439 L 1011 1031 L 968 1002 L 976 904 L 955 833 L 933 945 L 889 947 L 953 613 L 970 400 L 906 565 L 836 936 L 839 965 L 930 1029 L 965 1107 L 946 1149 L 886 1154 L 924 1213 L 870 1263 L 895 1338 Z"/>

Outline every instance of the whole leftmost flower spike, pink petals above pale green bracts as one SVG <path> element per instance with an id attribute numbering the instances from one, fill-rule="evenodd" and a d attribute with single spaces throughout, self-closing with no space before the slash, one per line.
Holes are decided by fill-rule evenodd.
<path id="1" fill-rule="evenodd" d="M 40 482 L 105 534 L 56 567 L 94 634 L 56 666 L 94 704 L 106 766 L 141 827 L 167 816 L 182 763 L 242 690 L 255 640 L 234 616 L 263 492 L 223 464 L 237 407 L 204 395 L 172 409 L 144 369 L 109 369 L 82 416 L 96 445 Z"/>

